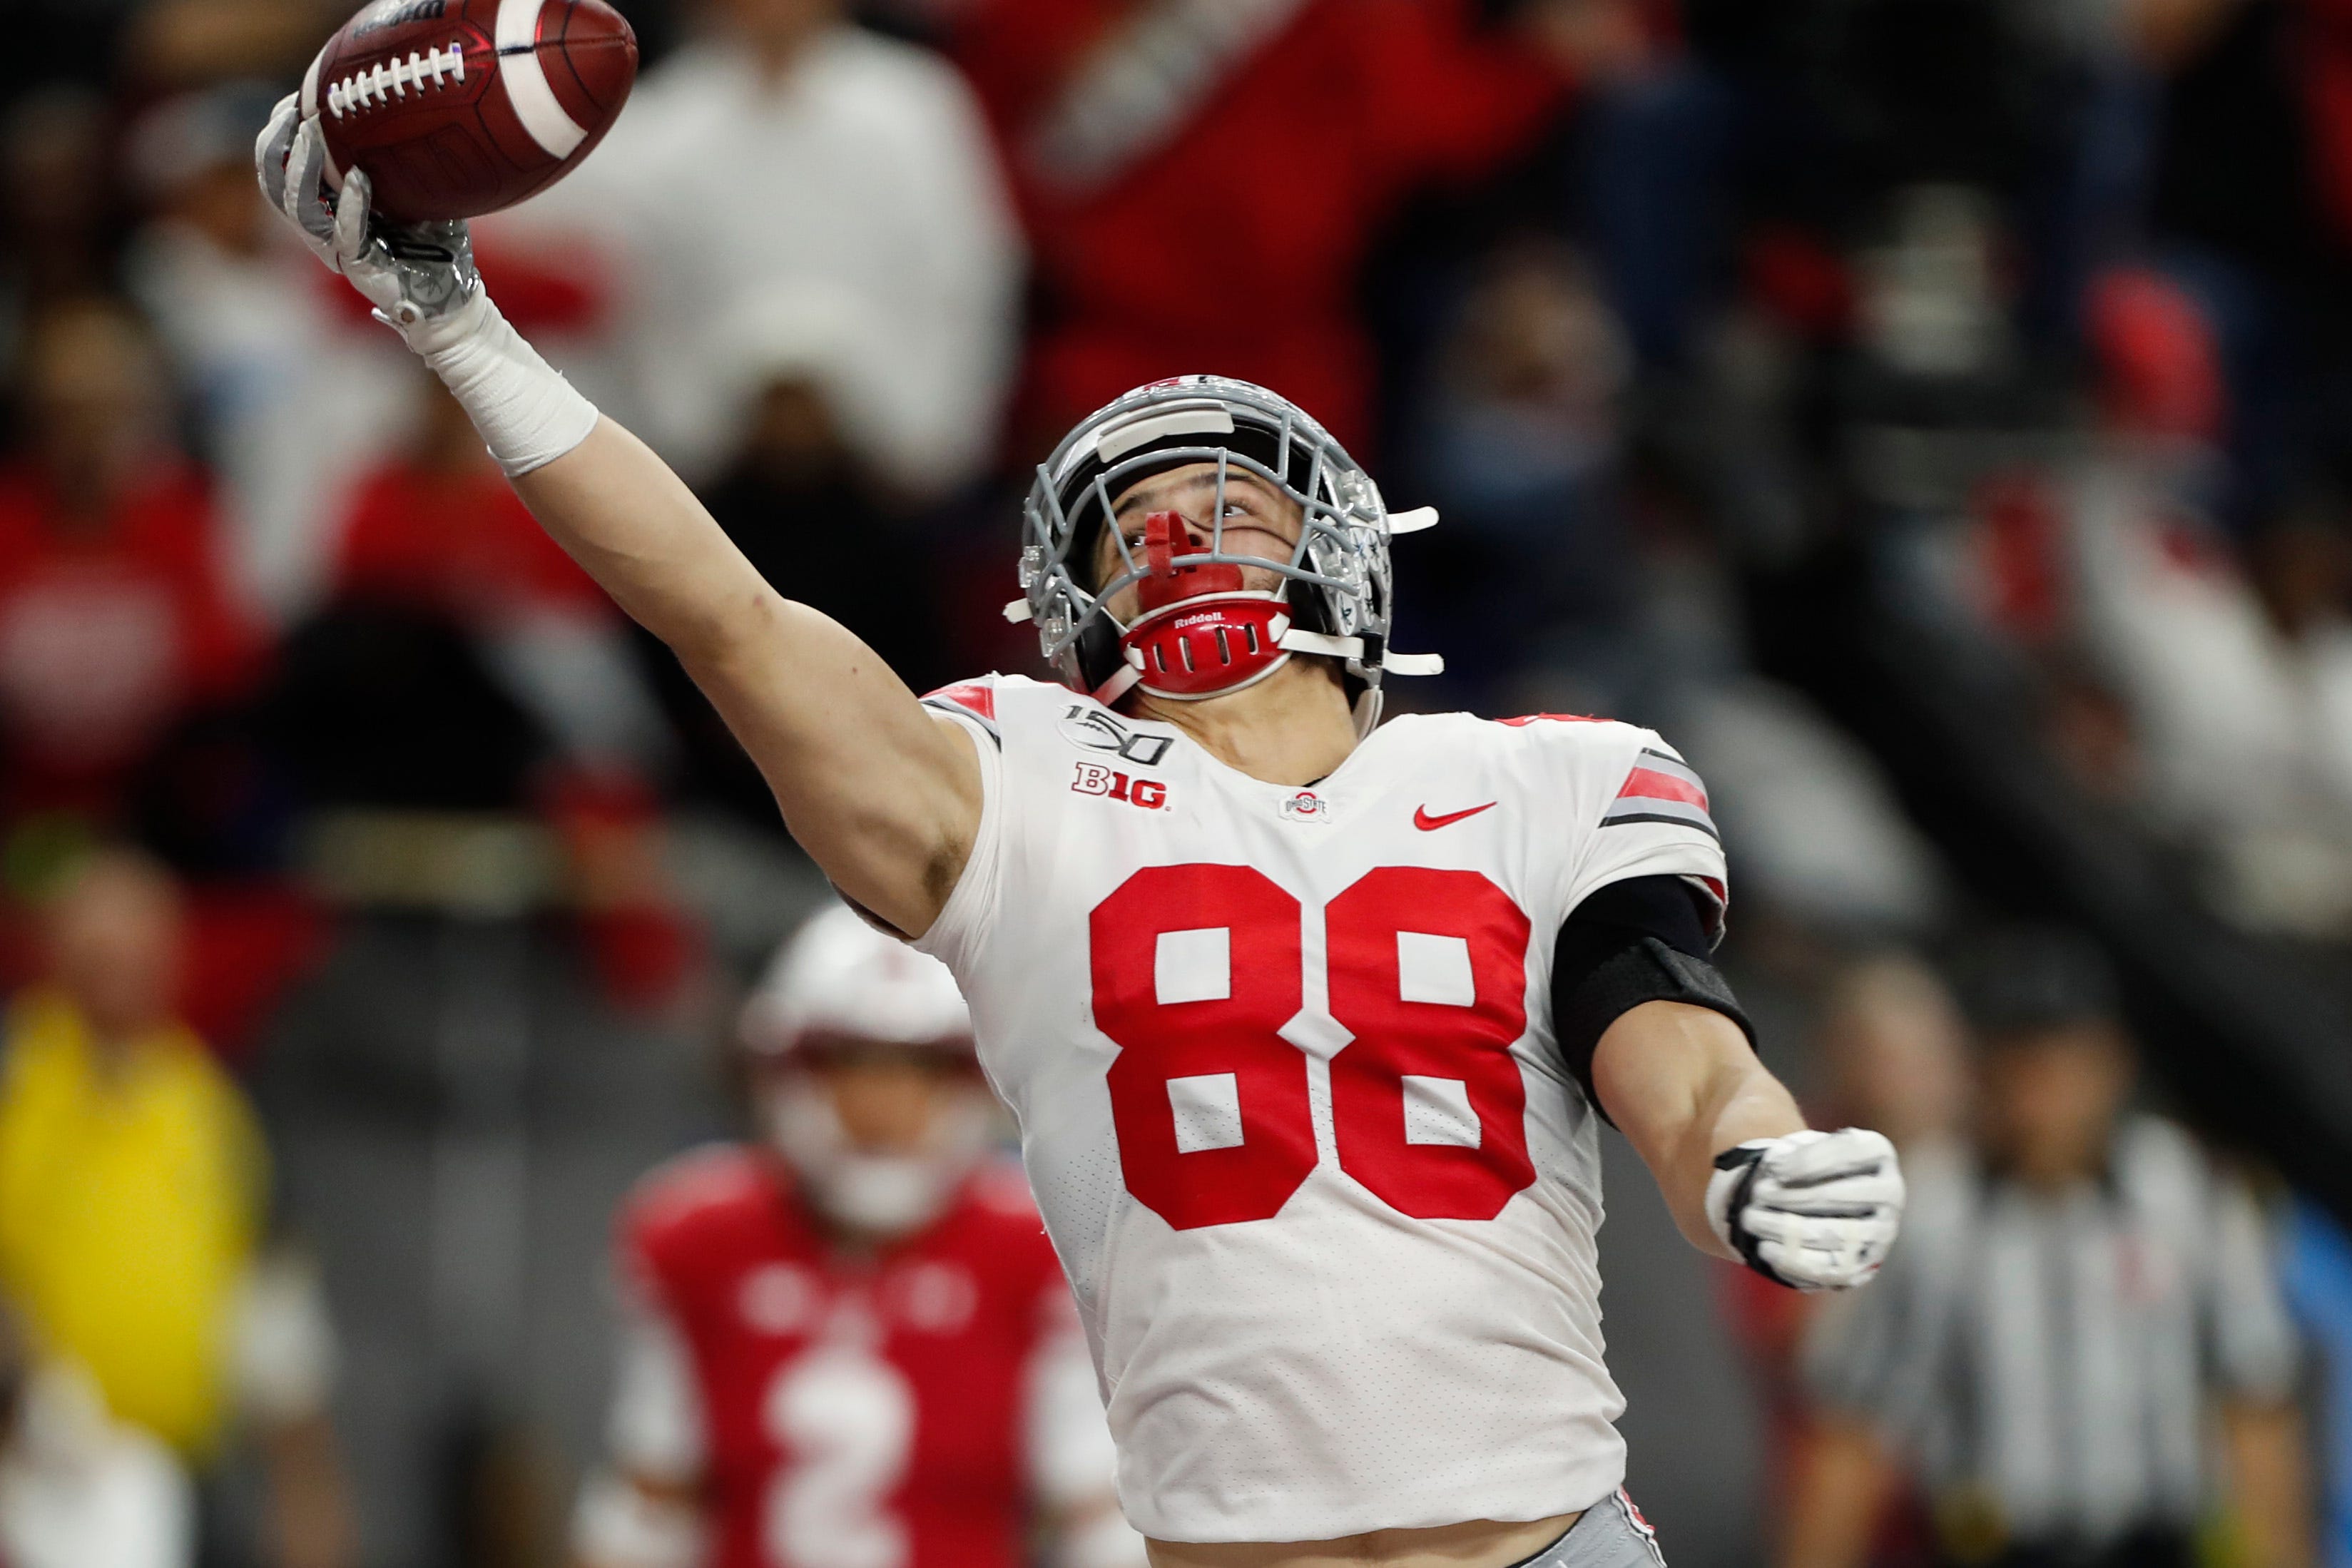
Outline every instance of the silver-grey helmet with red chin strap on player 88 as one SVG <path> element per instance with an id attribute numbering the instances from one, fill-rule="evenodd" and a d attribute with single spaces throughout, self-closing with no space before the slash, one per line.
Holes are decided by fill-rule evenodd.
<path id="1" fill-rule="evenodd" d="M 1094 583 L 1117 494 L 1188 463 L 1216 463 L 1209 548 L 1188 548 L 1183 520 L 1160 512 L 1145 520 L 1141 550 L 1112 534 L 1117 569 Z M 1298 503 L 1289 559 L 1225 550 L 1235 470 Z M 1324 654 L 1343 661 L 1357 733 L 1369 733 L 1385 675 L 1444 668 L 1388 646 L 1388 541 L 1435 522 L 1430 508 L 1390 515 L 1371 475 L 1287 397 L 1228 376 L 1174 376 L 1089 414 L 1037 468 L 1023 505 L 1023 597 L 1004 616 L 1033 621 L 1061 679 L 1101 703 L 1134 686 L 1200 701 L 1265 679 L 1291 654 Z M 1242 567 L 1270 569 L 1277 585 L 1244 590 Z M 1141 611 L 1122 625 L 1108 599 L 1129 585 Z"/>

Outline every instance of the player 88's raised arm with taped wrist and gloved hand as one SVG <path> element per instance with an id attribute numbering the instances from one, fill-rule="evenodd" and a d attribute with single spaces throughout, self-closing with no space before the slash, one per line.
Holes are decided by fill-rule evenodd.
<path id="1" fill-rule="evenodd" d="M 296 99 L 278 106 L 256 165 L 313 254 L 449 386 L 532 515 L 677 654 L 833 884 L 908 936 L 929 929 L 981 818 L 960 726 L 842 625 L 776 595 L 684 482 L 515 334 L 463 223 L 386 226 L 358 172 L 332 195 Z"/>

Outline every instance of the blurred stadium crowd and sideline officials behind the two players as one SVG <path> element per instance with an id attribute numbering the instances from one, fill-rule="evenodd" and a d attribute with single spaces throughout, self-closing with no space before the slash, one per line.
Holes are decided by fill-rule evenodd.
<path id="1" fill-rule="evenodd" d="M 1392 701 L 1708 778 L 1915 1218 L 1813 1312 L 1609 1143 L 1675 1563 L 2352 1563 L 2347 0 L 621 9 L 485 277 L 913 686 L 1221 371 L 1444 512 Z M 259 202 L 339 0 L 5 14 L 0 1561 L 562 1563 L 614 1206 L 823 884 Z"/>

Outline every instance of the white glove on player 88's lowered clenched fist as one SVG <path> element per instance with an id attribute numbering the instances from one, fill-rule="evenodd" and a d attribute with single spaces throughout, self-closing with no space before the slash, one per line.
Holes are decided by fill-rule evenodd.
<path id="1" fill-rule="evenodd" d="M 1844 1291 L 1886 1262 L 1903 1222 L 1896 1145 L 1858 1126 L 1752 1138 L 1715 1157 L 1708 1222 L 1750 1269 L 1797 1291 Z"/>

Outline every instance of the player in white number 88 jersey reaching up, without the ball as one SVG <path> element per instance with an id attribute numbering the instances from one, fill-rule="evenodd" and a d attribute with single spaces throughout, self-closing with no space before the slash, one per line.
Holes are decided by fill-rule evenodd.
<path id="1" fill-rule="evenodd" d="M 915 698 L 781 599 L 285 106 L 261 181 L 652 628 L 835 886 L 938 954 L 1077 1295 L 1162 1568 L 1656 1561 L 1602 1363 L 1599 1119 L 1682 1232 L 1844 1288 L 1893 1239 L 1870 1131 L 1809 1131 L 1708 961 L 1724 858 L 1646 729 L 1378 726 L 1381 491 L 1216 376 L 1073 430 L 1025 508 L 1061 684 Z M 875 571 L 891 571 L 877 557 Z"/>

